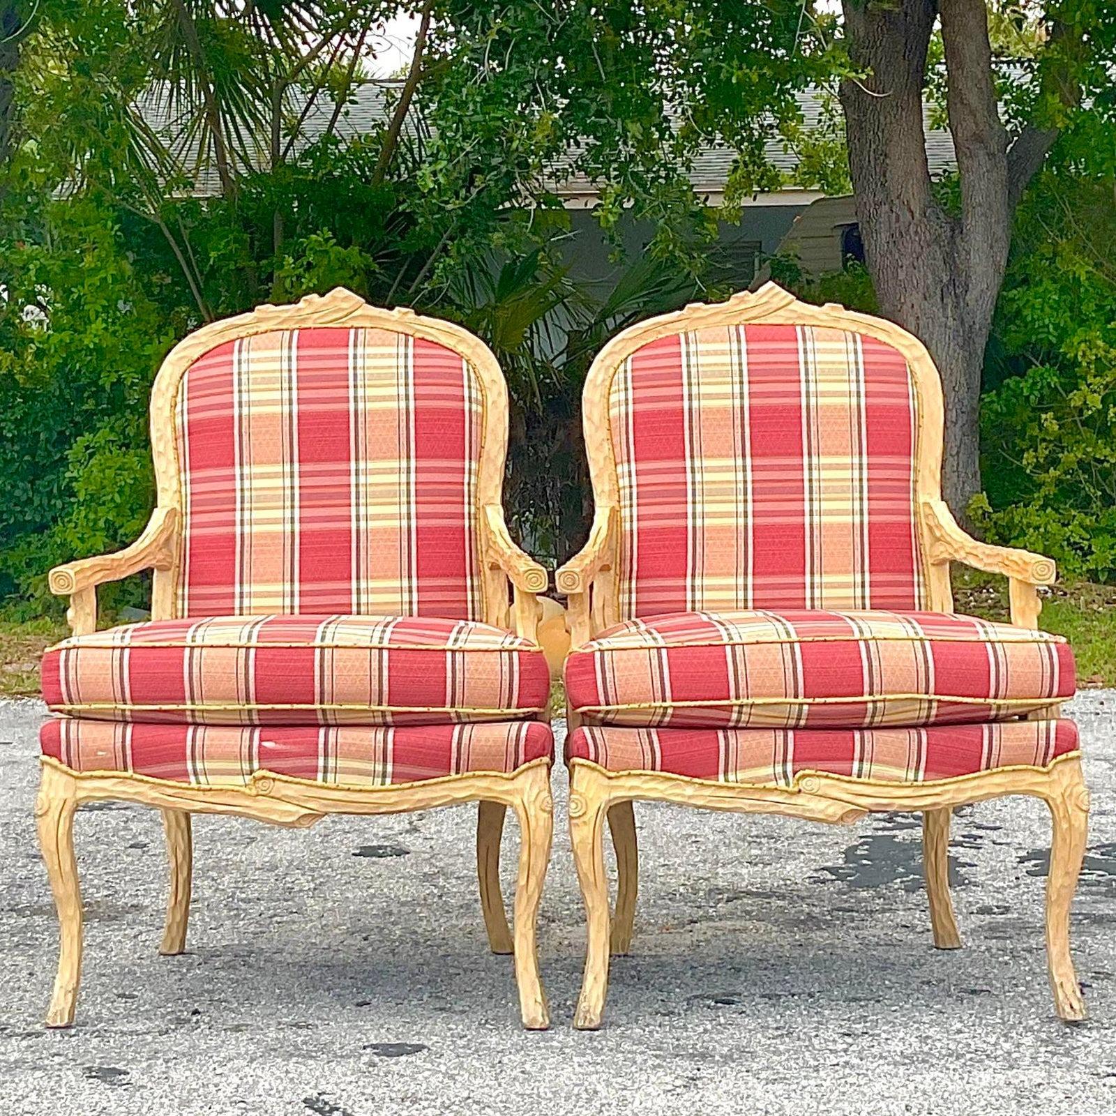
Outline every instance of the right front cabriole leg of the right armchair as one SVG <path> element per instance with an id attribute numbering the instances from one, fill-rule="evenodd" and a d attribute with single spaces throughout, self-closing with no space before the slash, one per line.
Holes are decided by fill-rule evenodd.
<path id="1" fill-rule="evenodd" d="M 1047 876 L 1046 941 L 1050 990 L 1059 1019 L 1085 1019 L 1085 1001 L 1069 952 L 1069 908 L 1085 858 L 1089 828 L 1089 791 L 1081 776 L 1081 761 L 1058 764 L 1051 773 L 1046 798 L 1050 808 L 1052 841 Z"/>

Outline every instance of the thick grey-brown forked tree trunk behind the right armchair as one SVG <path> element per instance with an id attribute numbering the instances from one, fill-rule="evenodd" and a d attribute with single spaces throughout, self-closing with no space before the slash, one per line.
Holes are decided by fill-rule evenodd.
<path id="1" fill-rule="evenodd" d="M 841 88 L 865 260 L 883 314 L 918 337 L 945 395 L 943 493 L 964 518 L 980 491 L 984 346 L 1011 231 L 1007 137 L 992 85 L 984 0 L 845 0 L 849 56 L 866 77 Z M 961 212 L 934 196 L 923 89 L 937 16 Z"/>

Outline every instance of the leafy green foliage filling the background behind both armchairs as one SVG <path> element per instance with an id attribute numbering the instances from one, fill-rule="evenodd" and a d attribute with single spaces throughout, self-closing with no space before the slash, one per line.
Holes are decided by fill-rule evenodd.
<path id="1" fill-rule="evenodd" d="M 1075 2 L 1100 27 L 1100 0 Z M 700 146 L 734 152 L 729 219 L 780 184 L 772 141 L 796 151 L 799 184 L 847 189 L 836 102 L 821 128 L 801 126 L 801 89 L 848 73 L 837 17 L 814 4 L 432 0 L 414 88 L 388 94 L 391 114 L 413 93 L 405 126 L 343 136 L 368 36 L 405 7 L 42 6 L 19 44 L 0 164 L 0 597 L 38 607 L 51 564 L 137 533 L 153 500 L 147 395 L 176 338 L 338 285 L 460 321 L 494 349 L 512 396 L 508 503 L 531 548 L 561 560 L 590 504 L 579 398 L 593 356 L 646 315 L 725 294 L 710 280 L 716 214 L 687 173 Z M 1033 45 L 1016 7 L 998 6 L 997 33 Z M 1058 59 L 1045 51 L 1037 65 Z M 1110 107 L 1103 76 L 1085 87 Z M 1098 161 L 1113 157 L 1101 114 L 1059 108 L 1050 83 L 1017 86 L 1012 112 L 1061 126 L 1101 181 Z M 153 127 L 152 106 L 174 127 Z M 308 114 L 329 117 L 312 143 Z M 1081 167 L 1062 165 L 1065 189 L 1078 189 Z M 600 198 L 609 283 L 570 278 L 554 184 L 574 174 Z M 1049 539 L 1065 561 L 1110 571 L 1114 315 L 1096 257 L 1116 244 L 1059 215 L 1062 189 L 1028 203 L 1017 238 L 985 411 L 984 514 L 999 537 Z M 1090 198 L 1101 213 L 1103 191 Z M 625 256 L 634 222 L 651 232 Z M 805 298 L 876 306 L 857 266 L 806 282 L 775 260 L 772 275 Z"/>

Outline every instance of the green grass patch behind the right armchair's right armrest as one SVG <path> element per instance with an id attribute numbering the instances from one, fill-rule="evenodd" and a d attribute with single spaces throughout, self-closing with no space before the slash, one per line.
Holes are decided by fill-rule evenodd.
<path id="1" fill-rule="evenodd" d="M 970 616 L 1008 619 L 1008 579 L 953 567 L 953 607 Z M 1079 686 L 1116 686 L 1116 586 L 1056 585 L 1042 600 L 1039 627 L 1074 648 Z"/>

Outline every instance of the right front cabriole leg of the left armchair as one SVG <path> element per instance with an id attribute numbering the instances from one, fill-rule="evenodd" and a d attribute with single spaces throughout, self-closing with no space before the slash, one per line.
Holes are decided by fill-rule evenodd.
<path id="1" fill-rule="evenodd" d="M 520 777 L 520 781 L 522 792 L 516 801 L 520 835 L 514 912 L 516 983 L 519 988 L 523 1027 L 531 1031 L 543 1031 L 550 1026 L 550 1016 L 539 979 L 536 927 L 554 838 L 550 769 L 532 768 Z"/>

